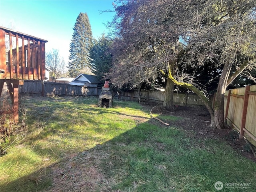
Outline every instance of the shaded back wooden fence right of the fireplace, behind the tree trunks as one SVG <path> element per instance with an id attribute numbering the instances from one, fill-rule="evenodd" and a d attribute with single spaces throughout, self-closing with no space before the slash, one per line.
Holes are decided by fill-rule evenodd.
<path id="1" fill-rule="evenodd" d="M 164 102 L 164 92 L 162 91 L 141 90 L 139 97 L 138 90 L 130 90 L 126 92 L 118 92 L 117 96 L 122 100 L 140 100 L 142 103 L 147 101 L 158 103 Z M 209 99 L 212 101 L 213 96 L 210 96 Z M 186 107 L 204 106 L 202 100 L 193 93 L 174 93 L 173 104 Z"/>

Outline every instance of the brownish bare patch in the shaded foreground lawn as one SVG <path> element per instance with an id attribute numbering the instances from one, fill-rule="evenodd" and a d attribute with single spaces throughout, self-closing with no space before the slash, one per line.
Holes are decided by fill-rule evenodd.
<path id="1" fill-rule="evenodd" d="M 97 149 L 97 150 L 95 150 Z M 53 184 L 47 192 L 108 192 L 112 191 L 99 161 L 107 156 L 101 146 L 67 157 L 52 165 Z"/>

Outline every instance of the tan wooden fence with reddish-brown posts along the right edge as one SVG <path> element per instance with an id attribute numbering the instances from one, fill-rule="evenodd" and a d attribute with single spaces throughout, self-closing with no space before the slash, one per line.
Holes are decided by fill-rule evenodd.
<path id="1" fill-rule="evenodd" d="M 226 91 L 224 110 L 228 125 L 256 146 L 256 85 Z"/>

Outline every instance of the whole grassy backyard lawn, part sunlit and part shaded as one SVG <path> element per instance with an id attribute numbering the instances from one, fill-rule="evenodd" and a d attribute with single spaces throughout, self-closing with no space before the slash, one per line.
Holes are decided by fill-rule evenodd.
<path id="1" fill-rule="evenodd" d="M 96 106 L 98 98 L 32 98 L 27 131 L 0 158 L 2 192 L 256 191 L 256 162 L 225 141 L 198 140 L 135 102 Z M 16 138 L 17 138 L 16 137 Z M 247 188 L 229 185 L 250 184 Z"/>

